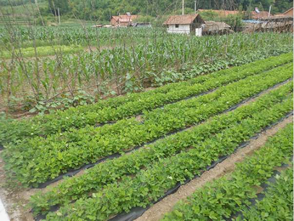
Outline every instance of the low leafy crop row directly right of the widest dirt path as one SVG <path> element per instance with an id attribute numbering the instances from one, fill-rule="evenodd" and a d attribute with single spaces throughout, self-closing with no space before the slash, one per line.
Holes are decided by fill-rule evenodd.
<path id="1" fill-rule="evenodd" d="M 223 220 L 229 218 L 237 211 L 243 210 L 251 204 L 249 199 L 256 197 L 256 188 L 254 187 L 259 186 L 260 183 L 271 177 L 274 167 L 280 166 L 281 163 L 289 160 L 292 154 L 293 124 L 289 124 L 269 139 L 253 156 L 239 163 L 230 176 L 222 177 L 206 184 L 186 201 L 178 203 L 174 210 L 167 214 L 163 220 Z M 289 177 L 289 179 L 293 180 L 293 177 Z M 289 182 L 291 181 L 289 180 Z M 289 189 L 287 187 L 283 188 L 286 191 L 291 189 L 293 191 L 293 185 Z M 289 193 L 284 194 L 288 195 Z M 277 196 L 277 202 L 282 200 L 279 198 L 280 193 Z M 293 201 L 291 204 L 293 208 Z M 262 210 L 267 210 L 267 207 Z M 260 218 L 265 215 L 262 213 Z M 291 215 L 293 219 L 293 213 Z M 268 218 L 266 220 L 280 220 L 278 218 L 281 217 L 275 218 L 277 219 Z"/>

